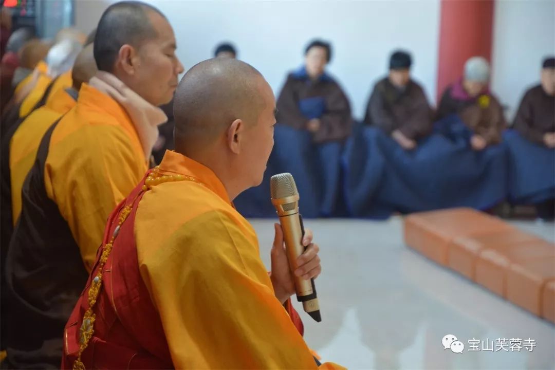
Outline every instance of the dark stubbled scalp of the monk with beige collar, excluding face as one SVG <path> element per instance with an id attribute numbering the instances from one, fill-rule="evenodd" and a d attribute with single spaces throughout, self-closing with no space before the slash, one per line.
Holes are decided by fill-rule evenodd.
<path id="1" fill-rule="evenodd" d="M 138 48 L 157 37 L 150 19 L 152 13 L 164 17 L 157 8 L 138 1 L 115 3 L 104 11 L 94 37 L 94 58 L 99 70 L 113 72 L 123 45 Z"/>

